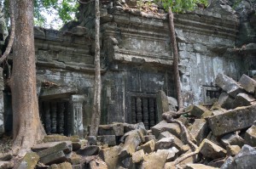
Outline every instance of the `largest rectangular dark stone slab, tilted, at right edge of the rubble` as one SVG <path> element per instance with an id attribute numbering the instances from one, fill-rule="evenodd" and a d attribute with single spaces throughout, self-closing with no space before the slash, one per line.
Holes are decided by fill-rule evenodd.
<path id="1" fill-rule="evenodd" d="M 239 107 L 224 114 L 209 117 L 209 127 L 215 136 L 251 127 L 256 120 L 256 105 Z"/>

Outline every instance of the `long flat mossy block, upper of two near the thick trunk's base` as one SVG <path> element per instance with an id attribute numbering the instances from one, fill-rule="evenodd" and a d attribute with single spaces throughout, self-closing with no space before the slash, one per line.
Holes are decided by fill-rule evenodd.
<path id="1" fill-rule="evenodd" d="M 72 142 L 68 141 L 56 144 L 53 147 L 39 151 L 38 155 L 40 158 L 42 158 L 44 156 L 55 154 L 60 151 L 64 152 L 65 154 L 70 153 L 72 151 Z"/>

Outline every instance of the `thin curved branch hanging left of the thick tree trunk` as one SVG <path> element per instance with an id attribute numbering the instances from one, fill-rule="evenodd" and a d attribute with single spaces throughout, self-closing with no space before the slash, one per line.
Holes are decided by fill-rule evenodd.
<path id="1" fill-rule="evenodd" d="M 10 8 L 10 20 L 11 20 L 11 34 L 9 37 L 9 42 L 7 45 L 6 50 L 3 53 L 3 56 L 0 58 L 0 64 L 3 63 L 3 60 L 5 60 L 7 58 L 7 56 L 9 55 L 9 52 L 13 46 L 14 43 L 14 39 L 15 39 L 15 8 L 14 8 L 14 0 L 10 0 L 9 1 L 9 8 Z"/>

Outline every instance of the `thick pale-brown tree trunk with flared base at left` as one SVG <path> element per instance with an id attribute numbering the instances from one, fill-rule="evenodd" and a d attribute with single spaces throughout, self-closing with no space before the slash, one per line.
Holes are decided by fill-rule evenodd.
<path id="1" fill-rule="evenodd" d="M 13 49 L 13 149 L 24 155 L 45 134 L 38 113 L 32 0 L 15 1 Z"/>

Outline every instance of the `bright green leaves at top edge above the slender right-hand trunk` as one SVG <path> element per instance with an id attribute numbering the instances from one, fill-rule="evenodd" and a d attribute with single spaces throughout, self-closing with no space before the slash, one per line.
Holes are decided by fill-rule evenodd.
<path id="1" fill-rule="evenodd" d="M 156 0 L 161 3 L 167 11 L 169 7 L 172 8 L 174 13 L 183 13 L 185 11 L 195 10 L 198 5 L 207 6 L 207 0 Z"/>

